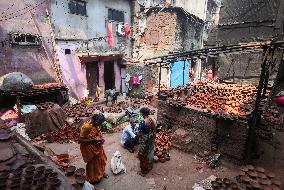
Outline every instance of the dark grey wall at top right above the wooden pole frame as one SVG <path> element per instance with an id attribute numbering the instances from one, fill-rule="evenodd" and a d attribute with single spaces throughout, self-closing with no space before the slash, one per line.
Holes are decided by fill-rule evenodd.
<path id="1" fill-rule="evenodd" d="M 224 0 L 218 30 L 219 45 L 268 40 L 283 33 L 281 0 Z"/>

